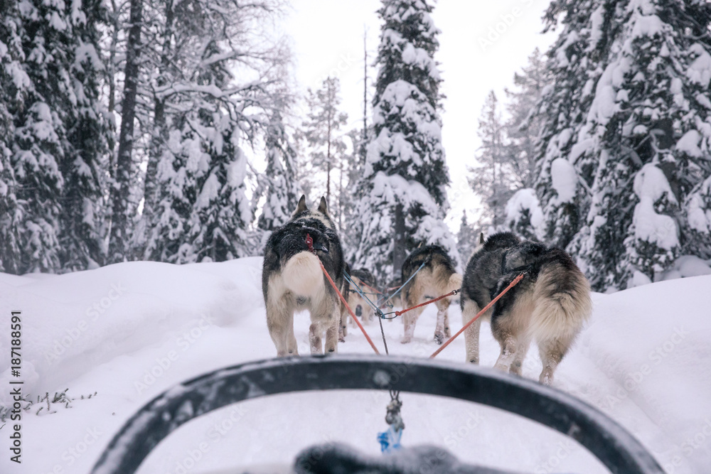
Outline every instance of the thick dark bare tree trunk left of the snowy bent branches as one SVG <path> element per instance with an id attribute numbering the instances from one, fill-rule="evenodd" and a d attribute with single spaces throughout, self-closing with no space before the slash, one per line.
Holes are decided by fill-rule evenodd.
<path id="1" fill-rule="evenodd" d="M 109 237 L 109 263 L 124 262 L 129 251 L 128 210 L 131 194 L 132 150 L 139 56 L 141 54 L 141 16 L 143 0 L 131 0 L 129 37 L 126 43 L 124 98 L 121 108 L 121 132 L 117 153 L 116 177 L 112 187 L 112 226 Z"/>

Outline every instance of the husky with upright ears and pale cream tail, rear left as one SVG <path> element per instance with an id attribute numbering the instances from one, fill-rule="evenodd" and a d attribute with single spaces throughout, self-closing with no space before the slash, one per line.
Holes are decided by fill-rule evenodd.
<path id="1" fill-rule="evenodd" d="M 315 254 L 309 252 L 307 236 L 313 239 Z M 321 354 L 321 336 L 326 332 L 326 351 L 336 352 L 340 303 L 336 291 L 321 271 L 326 271 L 343 288 L 343 250 L 328 216 L 326 200 L 316 211 L 306 208 L 301 196 L 292 219 L 275 230 L 264 248 L 262 292 L 267 306 L 267 327 L 277 347 L 277 356 L 297 355 L 294 311 L 311 312 L 309 345 L 311 354 Z"/>

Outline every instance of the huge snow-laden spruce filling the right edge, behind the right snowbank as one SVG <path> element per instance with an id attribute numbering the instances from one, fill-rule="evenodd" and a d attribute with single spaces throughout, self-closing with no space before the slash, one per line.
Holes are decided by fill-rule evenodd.
<path id="1" fill-rule="evenodd" d="M 709 4 L 560 1 L 549 26 L 562 13 L 541 102 L 546 238 L 594 289 L 653 281 L 680 253 L 709 252 Z"/>

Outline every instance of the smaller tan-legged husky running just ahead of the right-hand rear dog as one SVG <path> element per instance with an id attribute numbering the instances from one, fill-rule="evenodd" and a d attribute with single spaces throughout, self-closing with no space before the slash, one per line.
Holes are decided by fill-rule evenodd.
<path id="1" fill-rule="evenodd" d="M 424 266 L 417 272 L 423 262 Z M 449 258 L 447 251 L 439 245 L 420 247 L 405 259 L 402 264 L 402 281 L 407 281 L 415 272 L 417 272 L 415 278 L 401 290 L 402 303 L 405 308 L 412 308 L 419 303 L 424 303 L 427 297 L 437 298 L 459 289 L 461 286 L 461 275 L 456 273 L 454 262 Z M 434 328 L 434 341 L 437 344 L 444 343 L 444 339 L 451 335 L 447 309 L 452 299 L 454 296 L 442 298 L 434 303 L 437 305 L 437 325 Z M 405 313 L 405 336 L 401 341 L 403 344 L 412 341 L 412 335 L 415 334 L 415 324 L 422 311 L 424 311 L 424 306 Z"/>

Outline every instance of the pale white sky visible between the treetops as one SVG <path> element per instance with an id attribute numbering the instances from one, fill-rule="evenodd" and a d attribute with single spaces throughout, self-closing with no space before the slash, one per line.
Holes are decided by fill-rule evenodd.
<path id="1" fill-rule="evenodd" d="M 541 16 L 549 0 L 439 0 L 432 18 L 442 33 L 435 59 L 447 95 L 442 114 L 442 141 L 449 165 L 451 210 L 447 223 L 459 230 L 462 210 L 469 222 L 479 215 L 479 200 L 466 182 L 466 166 L 479 147 L 476 136 L 481 107 L 489 90 L 503 99 L 513 73 L 538 46 L 542 51 L 555 35 L 541 35 Z M 378 49 L 380 0 L 292 0 L 285 30 L 292 36 L 296 80 L 303 91 L 321 85 L 328 75 L 341 80 L 341 103 L 348 113 L 346 129 L 363 123 L 363 30 L 368 31 L 369 77 Z M 372 82 L 370 82 L 372 85 Z M 368 123 L 371 122 L 368 90 Z"/>

